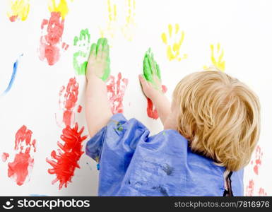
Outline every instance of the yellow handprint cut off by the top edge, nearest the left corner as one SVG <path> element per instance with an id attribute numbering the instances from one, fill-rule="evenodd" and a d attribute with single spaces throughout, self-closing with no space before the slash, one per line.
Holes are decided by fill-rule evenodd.
<path id="1" fill-rule="evenodd" d="M 9 1 L 11 11 L 8 11 L 7 15 L 11 22 L 16 20 L 26 20 L 30 9 L 29 0 L 16 0 Z"/>

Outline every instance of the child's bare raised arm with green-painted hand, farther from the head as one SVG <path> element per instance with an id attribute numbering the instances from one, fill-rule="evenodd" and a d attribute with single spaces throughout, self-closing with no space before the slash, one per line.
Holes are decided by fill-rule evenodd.
<path id="1" fill-rule="evenodd" d="M 85 116 L 91 137 L 102 129 L 112 117 L 105 83 L 109 75 L 109 45 L 107 39 L 100 38 L 97 44 L 94 43 L 90 48 L 86 73 Z"/>

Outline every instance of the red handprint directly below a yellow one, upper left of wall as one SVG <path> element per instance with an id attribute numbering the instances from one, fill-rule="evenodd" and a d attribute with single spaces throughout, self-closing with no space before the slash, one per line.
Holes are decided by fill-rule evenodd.
<path id="1" fill-rule="evenodd" d="M 64 33 L 64 19 L 61 18 L 60 12 L 52 12 L 49 20 L 42 20 L 42 30 L 47 25 L 47 35 L 40 37 L 40 59 L 52 66 L 59 61 L 59 45 Z M 62 48 L 67 49 L 69 45 L 62 43 Z"/>

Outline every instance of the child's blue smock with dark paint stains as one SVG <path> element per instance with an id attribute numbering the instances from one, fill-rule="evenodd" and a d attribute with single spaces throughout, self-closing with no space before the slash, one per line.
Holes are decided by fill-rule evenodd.
<path id="1" fill-rule="evenodd" d="M 225 167 L 193 153 L 187 139 L 167 129 L 149 136 L 137 119 L 114 114 L 86 144 L 100 165 L 100 196 L 223 196 Z M 243 195 L 243 170 L 231 175 L 234 196 Z"/>

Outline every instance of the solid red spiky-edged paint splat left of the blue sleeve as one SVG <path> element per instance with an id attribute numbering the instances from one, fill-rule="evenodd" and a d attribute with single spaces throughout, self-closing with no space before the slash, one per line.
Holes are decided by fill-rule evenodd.
<path id="1" fill-rule="evenodd" d="M 61 135 L 61 140 L 64 141 L 64 144 L 58 141 L 58 153 L 52 151 L 51 157 L 53 160 L 46 159 L 47 163 L 52 165 L 52 168 L 48 169 L 49 174 L 57 175 L 52 184 L 59 181 L 59 189 L 63 186 L 67 187 L 68 182 L 71 182 L 76 167 L 80 168 L 78 160 L 84 153 L 82 151 L 82 143 L 87 138 L 87 136 L 81 136 L 83 130 L 84 127 L 78 131 L 78 123 L 76 123 L 73 129 L 70 126 L 66 126 L 62 130 Z"/>

